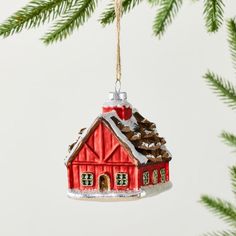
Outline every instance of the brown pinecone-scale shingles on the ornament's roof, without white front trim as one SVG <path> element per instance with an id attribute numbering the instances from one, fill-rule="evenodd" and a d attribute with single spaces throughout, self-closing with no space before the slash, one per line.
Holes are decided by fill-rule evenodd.
<path id="1" fill-rule="evenodd" d="M 118 128 L 119 132 L 129 140 L 130 145 L 133 145 L 137 153 L 145 156 L 148 162 L 170 161 L 171 154 L 165 146 L 166 141 L 157 133 L 156 125 L 144 118 L 137 111 L 133 113 L 133 117 L 135 119 L 129 123 L 123 122 L 118 116 L 111 114 L 110 120 Z M 109 119 L 107 120 L 105 117 L 99 119 L 103 119 L 104 122 L 109 121 Z M 94 124 L 96 124 L 96 122 Z M 81 143 L 83 143 L 83 139 L 87 137 L 90 132 L 92 132 L 94 124 L 92 127 L 90 127 L 90 129 L 87 131 L 88 133 L 85 135 L 85 129 L 80 130 L 79 137 L 76 142 L 69 146 L 69 155 L 66 158 L 66 163 L 70 161 L 75 153 L 79 150 Z M 112 126 L 109 125 L 109 127 L 112 129 Z M 122 138 L 120 140 L 123 143 L 127 142 Z"/>

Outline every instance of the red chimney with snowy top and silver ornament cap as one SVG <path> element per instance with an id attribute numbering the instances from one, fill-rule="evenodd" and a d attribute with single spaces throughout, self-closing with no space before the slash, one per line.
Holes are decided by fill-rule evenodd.
<path id="1" fill-rule="evenodd" d="M 122 120 L 129 120 L 132 116 L 132 106 L 127 102 L 126 92 L 110 92 L 109 100 L 103 104 L 103 113 L 116 111 Z"/>

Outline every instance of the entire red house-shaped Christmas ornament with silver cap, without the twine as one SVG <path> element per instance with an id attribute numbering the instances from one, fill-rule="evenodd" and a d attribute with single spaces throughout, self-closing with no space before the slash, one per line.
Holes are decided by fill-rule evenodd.
<path id="1" fill-rule="evenodd" d="M 171 187 L 171 154 L 156 125 L 127 102 L 109 94 L 103 113 L 69 146 L 68 196 L 117 200 L 155 195 Z"/>

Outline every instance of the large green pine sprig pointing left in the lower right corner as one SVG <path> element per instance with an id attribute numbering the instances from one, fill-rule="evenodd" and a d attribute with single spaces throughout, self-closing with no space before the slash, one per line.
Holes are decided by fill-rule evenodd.
<path id="1" fill-rule="evenodd" d="M 201 203 L 231 226 L 236 226 L 236 208 L 230 202 L 203 195 L 201 197 Z"/>

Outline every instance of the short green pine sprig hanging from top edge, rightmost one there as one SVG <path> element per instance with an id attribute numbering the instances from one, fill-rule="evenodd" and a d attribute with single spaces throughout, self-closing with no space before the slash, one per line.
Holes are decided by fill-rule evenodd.
<path id="1" fill-rule="evenodd" d="M 208 32 L 216 32 L 223 22 L 223 0 L 205 0 L 203 14 Z"/>

